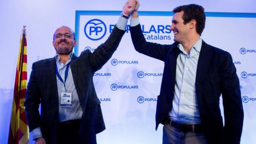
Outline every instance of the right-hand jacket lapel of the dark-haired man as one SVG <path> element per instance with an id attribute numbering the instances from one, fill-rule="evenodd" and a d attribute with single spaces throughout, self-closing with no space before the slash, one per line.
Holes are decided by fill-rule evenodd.
<path id="1" fill-rule="evenodd" d="M 196 93 L 197 99 L 201 100 L 203 92 L 203 84 L 206 78 L 208 66 L 212 57 L 212 48 L 202 41 L 197 70 L 196 70 Z"/>

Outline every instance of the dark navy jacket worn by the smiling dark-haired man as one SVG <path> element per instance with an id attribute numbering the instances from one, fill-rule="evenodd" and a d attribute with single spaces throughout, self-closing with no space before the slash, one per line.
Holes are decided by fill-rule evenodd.
<path id="1" fill-rule="evenodd" d="M 156 107 L 156 129 L 164 124 L 172 109 L 176 63 L 180 50 L 178 43 L 161 45 L 146 42 L 140 25 L 130 27 L 135 49 L 147 56 L 164 61 L 160 95 Z M 240 84 L 231 55 L 219 48 L 202 42 L 196 70 L 196 94 L 200 119 L 208 143 L 237 144 L 240 142 L 244 112 Z M 222 94 L 224 119 L 220 113 L 220 94 Z"/>

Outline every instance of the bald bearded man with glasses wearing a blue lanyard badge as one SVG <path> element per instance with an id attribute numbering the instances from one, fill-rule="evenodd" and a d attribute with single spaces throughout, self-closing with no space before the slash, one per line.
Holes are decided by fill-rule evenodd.
<path id="1" fill-rule="evenodd" d="M 126 4 L 108 40 L 93 53 L 74 55 L 75 34 L 69 27 L 54 32 L 56 56 L 33 63 L 24 103 L 36 144 L 96 144 L 105 124 L 92 77 L 118 47 L 134 6 L 134 1 Z"/>

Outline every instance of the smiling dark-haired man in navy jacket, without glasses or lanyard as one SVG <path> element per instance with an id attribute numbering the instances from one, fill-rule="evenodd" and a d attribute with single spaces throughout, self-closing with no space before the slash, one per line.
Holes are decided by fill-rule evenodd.
<path id="1" fill-rule="evenodd" d="M 164 125 L 163 144 L 240 143 L 244 113 L 239 79 L 231 55 L 200 38 L 206 20 L 204 8 L 197 4 L 174 8 L 170 27 L 174 43 L 161 45 L 146 42 L 138 7 L 136 0 L 130 21 L 134 47 L 164 61 L 156 106 L 156 129 L 160 123 Z"/>

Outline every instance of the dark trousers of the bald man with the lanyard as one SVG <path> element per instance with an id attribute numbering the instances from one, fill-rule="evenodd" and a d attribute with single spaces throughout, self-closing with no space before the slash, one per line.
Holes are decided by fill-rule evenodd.
<path id="1" fill-rule="evenodd" d="M 68 120 L 58 123 L 58 144 L 97 144 L 96 135 L 91 138 L 80 138 L 81 120 Z"/>

